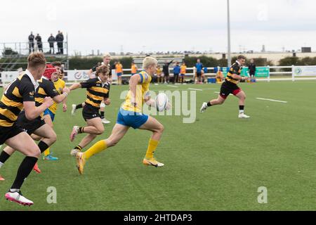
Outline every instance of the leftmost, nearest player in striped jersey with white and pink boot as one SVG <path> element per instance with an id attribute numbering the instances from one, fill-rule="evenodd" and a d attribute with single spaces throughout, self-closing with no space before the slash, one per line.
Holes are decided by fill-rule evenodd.
<path id="1" fill-rule="evenodd" d="M 18 120 L 22 108 L 25 109 L 27 119 L 34 120 L 46 108 L 53 105 L 53 100 L 50 97 L 45 98 L 39 107 L 35 105 L 34 92 L 39 85 L 37 80 L 41 78 L 46 68 L 44 54 L 31 53 L 27 62 L 25 74 L 6 87 L 0 103 L 0 144 L 6 143 L 7 146 L 11 146 L 26 155 L 18 169 L 13 185 L 5 195 L 7 200 L 21 205 L 33 205 L 31 200 L 22 195 L 20 188 L 37 162 L 40 150 L 31 137 L 15 122 Z M 6 152 L 1 152 L 0 167 L 8 157 Z"/>

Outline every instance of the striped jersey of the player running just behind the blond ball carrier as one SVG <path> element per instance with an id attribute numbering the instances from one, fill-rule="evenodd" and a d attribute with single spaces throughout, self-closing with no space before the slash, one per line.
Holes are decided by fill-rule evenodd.
<path id="1" fill-rule="evenodd" d="M 100 108 L 103 98 L 109 98 L 110 84 L 102 83 L 99 77 L 81 82 L 81 88 L 86 89 L 86 104 Z"/>

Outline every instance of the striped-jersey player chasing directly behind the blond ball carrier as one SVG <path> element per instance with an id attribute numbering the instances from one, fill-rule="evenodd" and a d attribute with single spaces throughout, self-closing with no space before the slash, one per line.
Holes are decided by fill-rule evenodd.
<path id="1" fill-rule="evenodd" d="M 96 136 L 103 134 L 104 127 L 100 118 L 99 110 L 101 102 L 104 101 L 105 105 L 110 105 L 110 83 L 108 82 L 110 68 L 108 65 L 101 65 L 96 70 L 96 78 L 88 79 L 86 82 L 72 84 L 70 90 L 79 88 L 86 89 L 86 101 L 82 115 L 86 120 L 86 127 L 74 126 L 72 134 L 70 135 L 70 141 L 74 141 L 74 137 L 77 134 L 86 133 L 84 139 L 82 139 L 78 146 L 72 150 L 72 155 L 77 151 L 81 151 L 86 147 Z"/>

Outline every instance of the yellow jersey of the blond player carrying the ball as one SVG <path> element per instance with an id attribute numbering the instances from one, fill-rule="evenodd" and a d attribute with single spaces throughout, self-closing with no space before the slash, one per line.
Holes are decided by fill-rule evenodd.
<path id="1" fill-rule="evenodd" d="M 152 77 L 147 74 L 147 72 L 142 71 L 133 76 L 140 76 L 140 83 L 136 86 L 136 107 L 131 103 L 132 93 L 129 90 L 129 93 L 126 95 L 125 102 L 121 106 L 123 110 L 132 111 L 136 113 L 142 113 L 143 111 L 143 103 L 145 95 L 149 91 L 150 82 L 152 81 Z"/>

